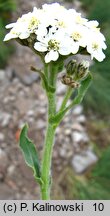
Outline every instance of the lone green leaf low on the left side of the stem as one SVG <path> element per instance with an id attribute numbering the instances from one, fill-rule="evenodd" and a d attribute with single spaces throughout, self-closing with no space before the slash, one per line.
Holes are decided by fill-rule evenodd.
<path id="1" fill-rule="evenodd" d="M 40 162 L 33 142 L 28 138 L 28 125 L 26 124 L 20 134 L 20 148 L 23 152 L 26 164 L 34 171 L 34 177 L 41 183 Z"/>

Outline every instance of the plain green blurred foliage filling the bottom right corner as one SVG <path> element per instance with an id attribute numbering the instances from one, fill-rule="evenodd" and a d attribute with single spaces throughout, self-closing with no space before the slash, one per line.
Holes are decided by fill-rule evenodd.
<path id="1" fill-rule="evenodd" d="M 110 199 L 110 148 L 106 149 L 91 172 L 91 179 L 80 191 L 81 199 Z"/>

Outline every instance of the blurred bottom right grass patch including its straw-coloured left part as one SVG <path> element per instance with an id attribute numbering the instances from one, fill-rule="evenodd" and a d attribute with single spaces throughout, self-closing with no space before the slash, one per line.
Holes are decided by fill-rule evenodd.
<path id="1" fill-rule="evenodd" d="M 99 161 L 85 176 L 66 174 L 70 199 L 110 200 L 110 147 L 104 150 Z"/>

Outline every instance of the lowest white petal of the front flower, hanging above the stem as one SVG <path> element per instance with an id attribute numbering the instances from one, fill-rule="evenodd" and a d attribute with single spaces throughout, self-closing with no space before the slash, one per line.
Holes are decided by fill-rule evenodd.
<path id="1" fill-rule="evenodd" d="M 57 51 L 51 50 L 48 52 L 45 56 L 45 62 L 49 63 L 50 61 L 56 61 L 59 57 L 59 54 Z"/>

